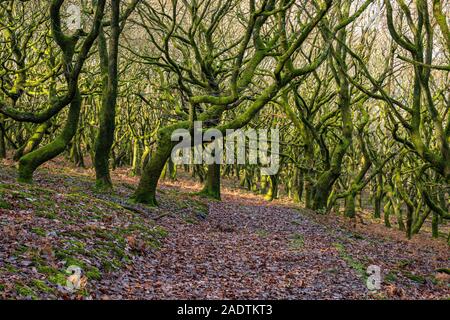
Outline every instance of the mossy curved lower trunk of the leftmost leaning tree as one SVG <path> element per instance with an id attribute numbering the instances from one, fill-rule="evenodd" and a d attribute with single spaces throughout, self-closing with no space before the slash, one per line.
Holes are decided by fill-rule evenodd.
<path id="1" fill-rule="evenodd" d="M 72 102 L 70 103 L 69 116 L 66 125 L 59 136 L 51 143 L 32 151 L 19 160 L 19 182 L 31 183 L 33 173 L 43 163 L 51 160 L 61 154 L 72 140 L 78 127 L 78 120 L 81 109 L 81 95 L 77 90 Z"/>

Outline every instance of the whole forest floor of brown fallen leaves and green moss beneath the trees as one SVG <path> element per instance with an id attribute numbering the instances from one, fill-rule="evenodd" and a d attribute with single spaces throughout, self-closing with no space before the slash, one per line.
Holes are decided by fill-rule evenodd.
<path id="1" fill-rule="evenodd" d="M 444 240 L 376 221 L 352 226 L 287 200 L 235 188 L 221 202 L 188 179 L 163 181 L 160 206 L 127 202 L 138 181 L 114 172 L 96 193 L 92 170 L 52 161 L 33 185 L 0 166 L 0 298 L 4 299 L 449 299 Z M 369 292 L 367 267 L 381 268 Z M 80 289 L 67 286 L 82 269 Z"/>

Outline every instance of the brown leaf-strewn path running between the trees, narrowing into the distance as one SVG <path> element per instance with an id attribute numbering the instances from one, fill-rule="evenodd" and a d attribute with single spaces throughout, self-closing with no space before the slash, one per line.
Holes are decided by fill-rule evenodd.
<path id="1" fill-rule="evenodd" d="M 168 219 L 171 220 L 171 219 Z M 161 222 L 169 236 L 116 290 L 143 298 L 343 299 L 364 279 L 331 245 L 336 236 L 295 209 L 226 197 L 197 224 Z M 109 283 L 106 283 L 110 288 Z M 109 290 L 108 290 L 109 291 Z"/>

